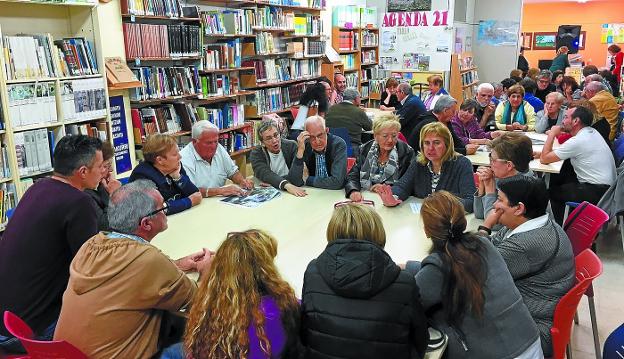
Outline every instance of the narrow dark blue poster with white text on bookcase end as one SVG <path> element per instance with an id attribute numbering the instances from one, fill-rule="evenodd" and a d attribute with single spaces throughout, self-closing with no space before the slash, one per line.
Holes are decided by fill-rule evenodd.
<path id="1" fill-rule="evenodd" d="M 111 109 L 111 126 L 113 136 L 113 148 L 115 150 L 115 169 L 117 174 L 130 171 L 130 147 L 128 144 L 128 131 L 126 127 L 126 110 L 123 104 L 123 96 L 108 98 Z"/>

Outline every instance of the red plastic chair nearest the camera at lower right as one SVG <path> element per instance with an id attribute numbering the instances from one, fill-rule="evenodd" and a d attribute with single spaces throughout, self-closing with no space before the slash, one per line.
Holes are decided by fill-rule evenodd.
<path id="1" fill-rule="evenodd" d="M 602 262 L 591 249 L 584 250 L 574 260 L 576 284 L 557 303 L 553 326 L 550 328 L 553 345 L 551 359 L 564 359 L 566 357 L 566 350 L 569 351 L 568 344 L 570 343 L 570 332 L 572 331 L 572 321 L 576 308 L 578 308 L 583 294 L 592 281 L 602 274 Z"/>

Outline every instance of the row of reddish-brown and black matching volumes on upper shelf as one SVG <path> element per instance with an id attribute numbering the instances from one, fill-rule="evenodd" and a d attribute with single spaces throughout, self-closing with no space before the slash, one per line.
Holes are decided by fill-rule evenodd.
<path id="1" fill-rule="evenodd" d="M 201 53 L 198 25 L 123 23 L 127 59 L 192 57 Z"/>

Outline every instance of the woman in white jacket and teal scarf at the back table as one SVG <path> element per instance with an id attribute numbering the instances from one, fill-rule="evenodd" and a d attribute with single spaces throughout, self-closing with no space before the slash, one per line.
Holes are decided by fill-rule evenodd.
<path id="1" fill-rule="evenodd" d="M 524 87 L 513 85 L 507 91 L 507 101 L 496 107 L 494 117 L 496 128 L 503 131 L 533 131 L 535 129 L 535 110 L 524 101 Z"/>

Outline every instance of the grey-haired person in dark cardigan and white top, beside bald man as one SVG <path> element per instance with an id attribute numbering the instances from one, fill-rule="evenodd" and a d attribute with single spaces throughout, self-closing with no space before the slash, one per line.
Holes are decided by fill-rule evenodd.
<path id="1" fill-rule="evenodd" d="M 298 187 L 303 186 L 303 164 L 295 163 L 297 142 L 280 138 L 273 120 L 260 123 L 258 139 L 260 146 L 254 148 L 249 155 L 254 176 L 294 196 L 306 196 L 306 191 Z"/>

